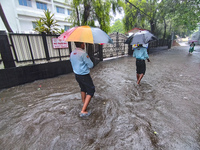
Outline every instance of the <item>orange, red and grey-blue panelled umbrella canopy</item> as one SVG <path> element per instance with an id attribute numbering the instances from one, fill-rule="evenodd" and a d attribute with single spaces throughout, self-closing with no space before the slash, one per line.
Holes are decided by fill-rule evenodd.
<path id="1" fill-rule="evenodd" d="M 62 41 L 84 42 L 91 44 L 113 44 L 112 39 L 103 30 L 90 26 L 73 27 L 61 34 L 58 39 Z"/>

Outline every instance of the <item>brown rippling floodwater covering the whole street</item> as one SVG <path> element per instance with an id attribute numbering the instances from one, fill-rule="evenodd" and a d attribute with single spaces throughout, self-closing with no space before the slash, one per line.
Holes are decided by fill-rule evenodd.
<path id="1" fill-rule="evenodd" d="M 135 58 L 100 62 L 82 119 L 74 74 L 0 91 L 2 150 L 199 150 L 200 46 L 152 50 L 136 85 Z"/>

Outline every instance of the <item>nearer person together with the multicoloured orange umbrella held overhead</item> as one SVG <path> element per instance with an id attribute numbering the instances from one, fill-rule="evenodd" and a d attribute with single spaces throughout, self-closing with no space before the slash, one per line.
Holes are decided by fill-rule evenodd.
<path id="1" fill-rule="evenodd" d="M 87 111 L 86 109 L 95 93 L 95 86 L 90 76 L 90 69 L 93 67 L 93 62 L 84 51 L 84 43 L 113 44 L 113 41 L 101 29 L 90 26 L 73 27 L 61 34 L 58 39 L 62 41 L 73 41 L 76 45 L 76 49 L 70 54 L 70 61 L 76 81 L 79 83 L 81 89 L 83 107 L 80 112 L 80 117 L 87 117 L 91 114 L 91 111 Z"/>

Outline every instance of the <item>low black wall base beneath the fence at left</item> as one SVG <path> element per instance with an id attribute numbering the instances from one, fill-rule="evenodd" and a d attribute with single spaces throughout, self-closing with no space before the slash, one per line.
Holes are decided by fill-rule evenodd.
<path id="1" fill-rule="evenodd" d="M 0 89 L 71 73 L 69 60 L 0 70 Z"/>

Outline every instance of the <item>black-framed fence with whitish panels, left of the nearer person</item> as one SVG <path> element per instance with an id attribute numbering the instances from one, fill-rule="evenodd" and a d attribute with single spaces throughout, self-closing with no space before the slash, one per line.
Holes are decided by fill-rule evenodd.
<path id="1" fill-rule="evenodd" d="M 9 42 L 16 65 L 69 59 L 69 48 L 53 48 L 52 38 L 57 37 L 58 35 L 46 34 L 9 34 Z"/>

